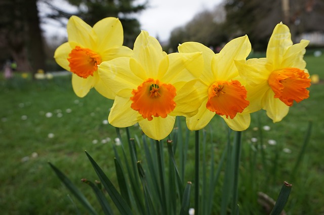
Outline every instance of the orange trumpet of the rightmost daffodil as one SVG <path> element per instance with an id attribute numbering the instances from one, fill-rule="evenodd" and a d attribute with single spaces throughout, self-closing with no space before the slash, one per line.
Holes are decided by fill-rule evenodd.
<path id="1" fill-rule="evenodd" d="M 292 106 L 294 100 L 300 102 L 308 98 L 310 87 L 309 74 L 298 68 L 284 68 L 273 71 L 268 83 L 274 92 L 274 97 L 279 98 L 288 106 Z"/>

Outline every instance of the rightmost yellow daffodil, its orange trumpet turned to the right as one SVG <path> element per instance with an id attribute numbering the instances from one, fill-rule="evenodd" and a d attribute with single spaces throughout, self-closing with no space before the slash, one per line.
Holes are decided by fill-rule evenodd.
<path id="1" fill-rule="evenodd" d="M 293 44 L 288 26 L 279 23 L 270 37 L 266 58 L 235 62 L 248 83 L 249 113 L 264 109 L 273 122 L 279 122 L 294 101 L 308 98 L 310 78 L 303 60 L 308 43 Z"/>

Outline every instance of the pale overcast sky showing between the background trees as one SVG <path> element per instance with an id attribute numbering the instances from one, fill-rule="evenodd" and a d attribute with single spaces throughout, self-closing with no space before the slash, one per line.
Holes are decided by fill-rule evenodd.
<path id="1" fill-rule="evenodd" d="M 62 0 L 54 0 L 57 5 L 67 8 Z M 144 0 L 138 1 L 143 2 Z M 194 15 L 203 10 L 212 10 L 222 0 L 148 0 L 149 8 L 141 12 L 137 18 L 141 29 L 160 41 L 169 39 L 171 31 L 189 22 Z M 43 6 L 41 6 L 43 8 Z M 46 9 L 44 9 L 46 10 Z M 42 11 L 42 9 L 41 9 Z M 42 13 L 42 12 L 41 12 Z M 45 35 L 66 35 L 66 29 L 55 22 L 42 25 Z"/>

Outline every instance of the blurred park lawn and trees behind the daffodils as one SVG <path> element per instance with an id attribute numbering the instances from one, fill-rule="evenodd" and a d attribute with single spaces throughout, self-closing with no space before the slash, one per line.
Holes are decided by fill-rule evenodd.
<path id="1" fill-rule="evenodd" d="M 45 36 L 41 26 L 54 22 L 55 26 L 60 24 L 58 29 L 64 29 L 71 15 L 81 17 L 91 26 L 102 18 L 118 17 L 124 27 L 124 44 L 132 48 L 141 30 L 138 15 L 151 7 L 150 0 L 55 2 L 0 0 L 2 214 L 75 213 L 78 203 L 56 178 L 48 161 L 66 173 L 87 196 L 92 195 L 91 191 L 80 179 L 96 176 L 84 150 L 91 152 L 98 163 L 100 160 L 108 173 L 114 169 L 111 144 L 118 145 L 119 140 L 115 139 L 114 128 L 107 124 L 112 101 L 94 90 L 85 98 L 73 93 L 69 73 L 62 71 L 53 59 L 55 49 L 67 38 L 55 33 Z M 324 0 L 217 1 L 214 7 L 197 11 L 188 23 L 173 29 L 169 38 L 160 43 L 167 52 L 176 51 L 178 44 L 185 41 L 197 41 L 218 52 L 230 39 L 247 34 L 253 47 L 249 58 L 265 57 L 269 37 L 280 21 L 290 27 L 294 43 L 310 40 L 304 59 L 313 84 L 309 99 L 295 103 L 282 122 L 273 124 L 264 112 L 252 116 L 251 126 L 242 139 L 240 212 L 267 214 L 265 208 L 269 205 L 258 201 L 258 192 L 275 199 L 282 182 L 291 179 L 294 187 L 287 214 L 324 214 Z M 309 122 L 311 136 L 303 147 Z M 215 127 L 218 132 L 211 131 Z M 215 146 L 215 164 L 219 163 L 226 143 L 225 127 L 217 118 L 206 128 Z M 132 129 L 134 135 L 140 135 L 138 127 Z M 125 133 L 123 137 L 126 138 Z M 193 153 L 189 148 L 188 158 Z M 186 180 L 191 181 L 193 159 L 188 159 L 187 167 Z M 213 214 L 218 214 L 220 192 L 215 191 Z"/>

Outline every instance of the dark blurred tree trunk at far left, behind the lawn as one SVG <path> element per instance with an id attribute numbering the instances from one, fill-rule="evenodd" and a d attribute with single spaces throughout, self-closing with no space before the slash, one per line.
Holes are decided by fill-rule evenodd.
<path id="1" fill-rule="evenodd" d="M 30 55 L 32 73 L 45 68 L 45 51 L 43 45 L 42 31 L 39 27 L 39 17 L 37 9 L 37 0 L 26 0 L 26 27 L 27 27 L 27 47 Z"/>

